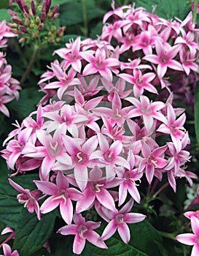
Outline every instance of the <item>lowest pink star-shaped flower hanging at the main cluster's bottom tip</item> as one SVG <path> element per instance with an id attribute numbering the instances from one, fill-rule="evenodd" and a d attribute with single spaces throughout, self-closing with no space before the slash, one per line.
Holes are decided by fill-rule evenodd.
<path id="1" fill-rule="evenodd" d="M 85 247 L 86 239 L 95 246 L 104 249 L 107 248 L 106 244 L 104 243 L 104 241 L 102 241 L 98 233 L 93 231 L 94 229 L 100 227 L 101 222 L 86 222 L 85 218 L 83 218 L 81 214 L 74 214 L 74 223 L 75 224 L 61 227 L 58 230 L 58 233 L 61 233 L 64 236 L 75 235 L 73 244 L 74 253 L 76 253 L 77 255 L 81 254 L 82 250 Z"/>

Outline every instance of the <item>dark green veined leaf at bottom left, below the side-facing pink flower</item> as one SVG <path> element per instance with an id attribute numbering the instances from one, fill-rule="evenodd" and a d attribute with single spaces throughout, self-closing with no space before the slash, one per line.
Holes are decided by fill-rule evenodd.
<path id="1" fill-rule="evenodd" d="M 50 238 L 55 223 L 55 214 L 44 214 L 38 220 L 36 214 L 22 211 L 15 230 L 13 248 L 20 256 L 29 256 L 42 248 Z"/>

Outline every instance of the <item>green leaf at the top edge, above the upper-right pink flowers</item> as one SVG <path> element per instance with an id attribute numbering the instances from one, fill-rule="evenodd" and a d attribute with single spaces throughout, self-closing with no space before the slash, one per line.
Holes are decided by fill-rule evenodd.
<path id="1" fill-rule="evenodd" d="M 148 12 L 152 12 L 152 6 L 157 6 L 155 14 L 165 19 L 173 19 L 178 17 L 184 19 L 191 10 L 187 0 L 138 0 L 136 7 L 144 7 Z"/>

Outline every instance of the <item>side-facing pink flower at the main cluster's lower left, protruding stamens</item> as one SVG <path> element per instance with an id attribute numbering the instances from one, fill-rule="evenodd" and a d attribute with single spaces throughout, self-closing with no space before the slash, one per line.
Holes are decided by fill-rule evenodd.
<path id="1" fill-rule="evenodd" d="M 39 203 L 37 200 L 42 195 L 42 192 L 39 190 L 30 191 L 29 189 L 23 189 L 19 184 L 12 181 L 12 179 L 8 179 L 9 184 L 14 187 L 20 194 L 17 195 L 17 200 L 19 203 L 24 203 L 24 207 L 28 209 L 28 211 L 32 214 L 34 211 L 36 212 L 37 218 L 41 219 Z"/>

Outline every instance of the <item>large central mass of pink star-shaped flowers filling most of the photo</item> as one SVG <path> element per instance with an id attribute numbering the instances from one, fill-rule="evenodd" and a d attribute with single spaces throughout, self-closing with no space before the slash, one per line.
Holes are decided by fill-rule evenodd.
<path id="1" fill-rule="evenodd" d="M 44 106 L 4 141 L 1 153 L 17 170 L 13 175 L 39 169 L 36 190 L 9 179 L 19 203 L 38 219 L 59 207 L 67 225 L 58 233 L 75 235 L 74 253 L 86 239 L 106 248 L 116 230 L 130 241 L 128 223 L 146 217 L 131 212 L 141 200 L 136 182 L 166 175 L 176 191 L 177 178 L 191 185 L 196 177 L 184 170 L 190 160 L 186 116 L 173 108 L 170 90 L 173 75 L 198 72 L 195 31 L 191 13 L 168 21 L 143 8 L 113 6 L 98 39 L 77 37 L 55 50 L 61 61 L 39 82 Z M 162 90 L 170 93 L 165 101 L 157 99 Z M 84 217 L 91 208 L 108 223 L 101 236 L 93 231 L 100 222 Z"/>

